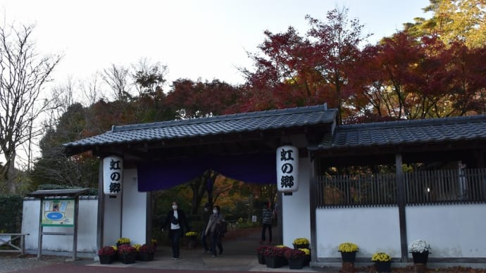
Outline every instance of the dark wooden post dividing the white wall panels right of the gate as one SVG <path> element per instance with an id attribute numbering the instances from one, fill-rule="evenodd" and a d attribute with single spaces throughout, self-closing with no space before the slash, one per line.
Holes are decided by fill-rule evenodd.
<path id="1" fill-rule="evenodd" d="M 401 153 L 395 155 L 395 174 L 397 177 L 397 197 L 398 197 L 398 215 L 400 224 L 400 244 L 401 244 L 401 262 L 407 262 L 409 258 L 408 244 L 406 239 L 406 217 L 405 217 L 405 183 L 404 171 L 401 168 Z"/>

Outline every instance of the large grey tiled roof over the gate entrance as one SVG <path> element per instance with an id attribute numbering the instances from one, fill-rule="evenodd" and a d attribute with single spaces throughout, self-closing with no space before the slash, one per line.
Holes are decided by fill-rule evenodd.
<path id="1" fill-rule="evenodd" d="M 332 123 L 337 110 L 325 105 L 266 110 L 210 118 L 171 120 L 138 125 L 113 126 L 111 131 L 63 144 L 64 147 L 125 144 L 194 136 L 263 131 Z"/>

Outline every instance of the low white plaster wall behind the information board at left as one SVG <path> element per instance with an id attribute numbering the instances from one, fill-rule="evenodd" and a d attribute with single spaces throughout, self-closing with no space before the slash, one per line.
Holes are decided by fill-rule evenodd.
<path id="1" fill-rule="evenodd" d="M 37 199 L 23 202 L 22 233 L 25 236 L 25 249 L 36 250 L 39 243 L 39 210 L 40 201 Z M 77 226 L 77 251 L 96 252 L 96 226 L 97 226 L 98 200 L 95 198 L 80 199 L 78 226 Z M 73 233 L 73 227 L 44 227 L 44 232 Z M 44 235 L 42 236 L 42 250 L 49 251 L 73 251 L 72 235 Z"/>

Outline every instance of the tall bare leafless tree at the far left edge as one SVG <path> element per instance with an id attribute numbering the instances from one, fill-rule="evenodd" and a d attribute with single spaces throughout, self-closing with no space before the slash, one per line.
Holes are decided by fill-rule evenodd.
<path id="1" fill-rule="evenodd" d="M 39 56 L 32 42 L 33 26 L 0 27 L 0 168 L 6 191 L 15 193 L 15 158 L 18 148 L 42 134 L 35 126 L 51 107 L 41 91 L 61 56 Z"/>

